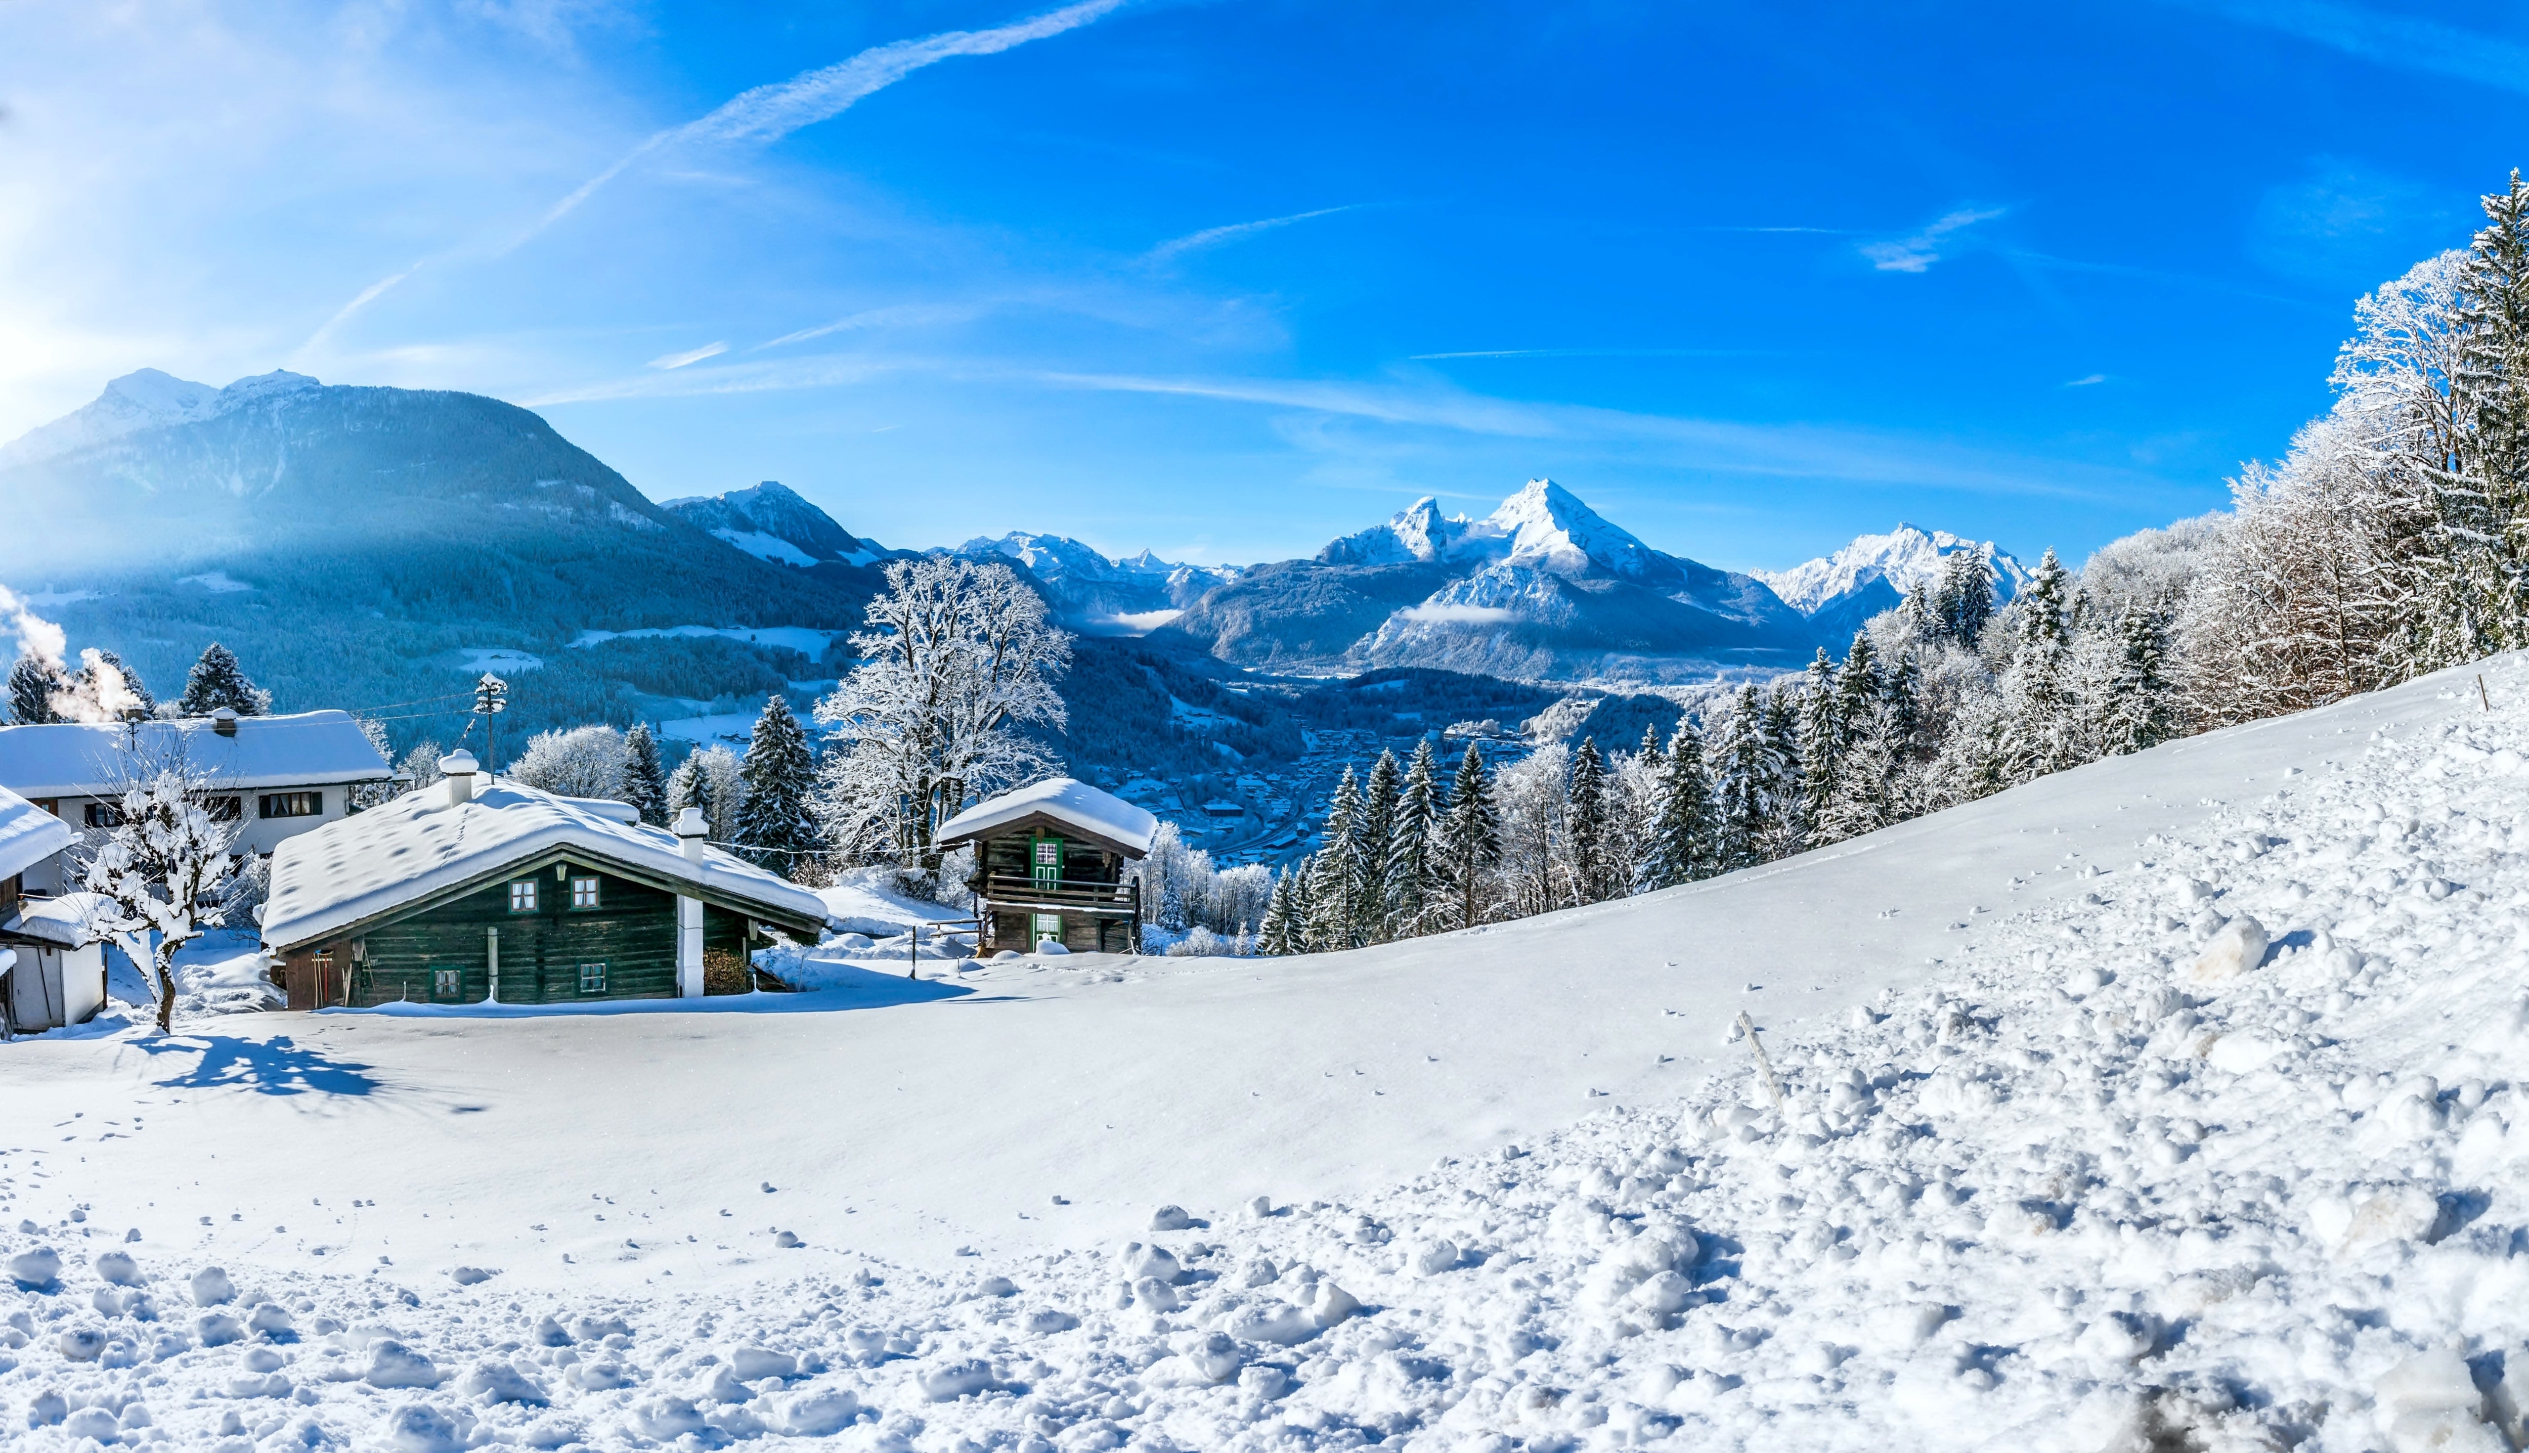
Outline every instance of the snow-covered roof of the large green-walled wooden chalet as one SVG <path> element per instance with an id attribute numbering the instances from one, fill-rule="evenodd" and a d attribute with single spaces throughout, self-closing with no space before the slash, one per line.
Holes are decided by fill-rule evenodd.
<path id="1" fill-rule="evenodd" d="M 814 892 L 716 847 L 698 862 L 685 859 L 673 831 L 620 821 L 620 804 L 496 781 L 468 804 L 450 804 L 445 786 L 427 786 L 286 839 L 273 849 L 263 943 L 301 945 L 551 852 L 582 852 L 761 905 L 766 917 L 824 922 L 824 900 Z"/>

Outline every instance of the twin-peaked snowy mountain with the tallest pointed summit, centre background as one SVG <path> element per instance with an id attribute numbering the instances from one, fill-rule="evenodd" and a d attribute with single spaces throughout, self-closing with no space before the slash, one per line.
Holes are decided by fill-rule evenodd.
<path id="1" fill-rule="evenodd" d="M 1313 561 L 1257 566 L 1168 632 L 1277 670 L 1684 680 L 1791 665 L 1811 629 L 1753 576 L 1669 556 L 1530 480 L 1485 518 L 1416 500 Z"/>

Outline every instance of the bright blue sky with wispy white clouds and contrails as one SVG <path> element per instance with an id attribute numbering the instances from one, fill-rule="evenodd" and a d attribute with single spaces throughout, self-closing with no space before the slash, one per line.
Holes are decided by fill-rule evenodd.
<path id="1" fill-rule="evenodd" d="M 1553 475 L 1785 566 L 2223 503 L 2529 164 L 2456 3 L 0 8 L 0 435 L 445 387 L 885 543 L 1307 553 Z"/>

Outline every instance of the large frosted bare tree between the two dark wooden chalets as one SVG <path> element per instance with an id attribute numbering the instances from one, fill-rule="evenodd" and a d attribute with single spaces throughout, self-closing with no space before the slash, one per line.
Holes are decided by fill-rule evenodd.
<path id="1" fill-rule="evenodd" d="M 862 662 L 817 702 L 835 743 L 817 816 L 837 852 L 936 867 L 941 821 L 1060 766 L 1019 728 L 1065 725 L 1070 634 L 1009 566 L 893 561 L 852 649 Z"/>

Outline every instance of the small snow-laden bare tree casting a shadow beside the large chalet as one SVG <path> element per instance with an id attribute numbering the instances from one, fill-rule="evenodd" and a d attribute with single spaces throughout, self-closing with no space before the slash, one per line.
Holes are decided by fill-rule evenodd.
<path id="1" fill-rule="evenodd" d="M 202 938 L 238 872 L 230 852 L 243 826 L 235 801 L 187 761 L 182 745 L 154 751 L 124 733 L 111 826 L 86 849 L 83 884 L 96 895 L 89 927 L 134 965 L 147 965 L 159 1034 L 175 1023 L 175 955 Z"/>

